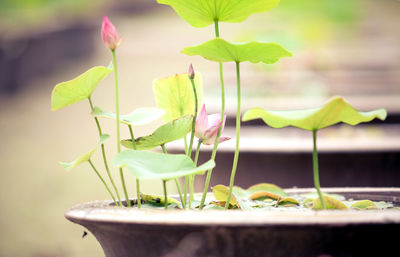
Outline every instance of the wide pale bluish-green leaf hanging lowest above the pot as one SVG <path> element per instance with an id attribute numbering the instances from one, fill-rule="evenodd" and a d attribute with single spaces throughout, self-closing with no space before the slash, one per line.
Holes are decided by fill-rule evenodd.
<path id="1" fill-rule="evenodd" d="M 126 166 L 138 179 L 170 180 L 188 175 L 201 175 L 215 166 L 213 160 L 196 167 L 183 154 L 162 154 L 138 150 L 120 152 L 112 161 L 117 167 Z"/>

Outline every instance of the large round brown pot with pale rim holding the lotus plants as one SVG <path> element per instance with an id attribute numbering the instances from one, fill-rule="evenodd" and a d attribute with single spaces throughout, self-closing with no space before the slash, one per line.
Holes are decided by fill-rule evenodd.
<path id="1" fill-rule="evenodd" d="M 400 204 L 400 188 L 323 191 Z M 107 257 L 395 256 L 400 235 L 399 210 L 153 211 L 97 201 L 65 217 L 92 232 Z"/>

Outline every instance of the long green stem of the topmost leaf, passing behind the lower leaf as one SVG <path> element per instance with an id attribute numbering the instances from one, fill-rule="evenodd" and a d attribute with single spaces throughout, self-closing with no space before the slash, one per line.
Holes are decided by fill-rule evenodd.
<path id="1" fill-rule="evenodd" d="M 215 20 L 214 25 L 215 25 L 215 36 L 218 38 L 219 37 L 218 20 Z M 221 82 L 221 123 L 222 123 L 224 121 L 224 115 L 225 115 L 225 82 L 224 82 L 224 69 L 222 62 L 219 63 L 219 78 Z M 215 160 L 215 156 L 217 155 L 217 149 L 219 144 L 219 138 L 221 137 L 221 131 L 222 131 L 222 126 L 219 127 L 217 138 L 214 143 L 214 148 L 211 153 L 211 160 L 213 161 Z M 206 182 L 204 184 L 204 191 L 201 197 L 201 202 L 199 207 L 200 210 L 204 208 L 204 202 L 206 200 L 208 188 L 210 186 L 212 171 L 213 169 L 210 169 L 207 172 Z"/>

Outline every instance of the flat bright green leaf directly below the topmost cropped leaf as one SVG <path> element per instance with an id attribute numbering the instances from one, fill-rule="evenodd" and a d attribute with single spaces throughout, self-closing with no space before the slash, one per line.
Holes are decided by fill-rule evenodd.
<path id="1" fill-rule="evenodd" d="M 272 64 L 282 57 L 292 54 L 276 43 L 230 43 L 222 38 L 215 38 L 201 45 L 185 47 L 182 50 L 186 55 L 200 55 L 215 62 L 263 62 Z"/>

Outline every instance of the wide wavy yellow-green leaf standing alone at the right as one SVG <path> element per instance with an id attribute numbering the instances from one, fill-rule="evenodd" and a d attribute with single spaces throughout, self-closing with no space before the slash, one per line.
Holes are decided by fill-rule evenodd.
<path id="1" fill-rule="evenodd" d="M 324 106 L 295 111 L 267 111 L 261 108 L 251 109 L 243 115 L 243 121 L 263 119 L 273 128 L 287 126 L 305 130 L 319 130 L 339 122 L 357 125 L 375 118 L 384 120 L 386 111 L 378 109 L 370 112 L 359 112 L 347 103 L 342 97 L 334 97 Z"/>

